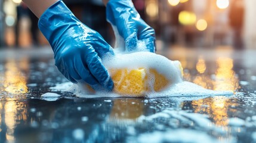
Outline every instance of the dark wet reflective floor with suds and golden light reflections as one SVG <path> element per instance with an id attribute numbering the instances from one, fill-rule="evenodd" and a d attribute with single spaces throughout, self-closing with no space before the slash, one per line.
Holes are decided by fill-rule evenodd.
<path id="1" fill-rule="evenodd" d="M 184 79 L 229 97 L 76 98 L 50 48 L 0 51 L 0 142 L 256 142 L 256 50 L 172 48 Z M 53 92 L 60 97 L 41 97 Z"/>

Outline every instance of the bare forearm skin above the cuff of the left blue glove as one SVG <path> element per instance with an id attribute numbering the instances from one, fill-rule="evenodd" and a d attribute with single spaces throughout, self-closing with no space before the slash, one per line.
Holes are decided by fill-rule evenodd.
<path id="1" fill-rule="evenodd" d="M 29 9 L 36 15 L 41 17 L 45 10 L 53 5 L 58 0 L 23 0 Z"/>

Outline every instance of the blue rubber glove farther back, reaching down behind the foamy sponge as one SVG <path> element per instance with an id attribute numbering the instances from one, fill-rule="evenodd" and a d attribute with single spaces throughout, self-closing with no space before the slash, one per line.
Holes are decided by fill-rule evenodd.
<path id="1" fill-rule="evenodd" d="M 145 42 L 147 51 L 155 52 L 155 30 L 140 18 L 131 0 L 109 0 L 106 11 L 107 21 L 116 26 L 127 51 L 138 50 L 139 40 Z"/>

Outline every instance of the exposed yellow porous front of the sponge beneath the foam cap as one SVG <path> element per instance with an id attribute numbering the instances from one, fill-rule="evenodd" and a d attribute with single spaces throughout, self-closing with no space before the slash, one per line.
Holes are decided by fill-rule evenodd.
<path id="1" fill-rule="evenodd" d="M 143 97 L 145 92 L 159 92 L 171 83 L 155 69 L 111 69 L 109 73 L 114 82 L 113 91 L 120 95 Z"/>

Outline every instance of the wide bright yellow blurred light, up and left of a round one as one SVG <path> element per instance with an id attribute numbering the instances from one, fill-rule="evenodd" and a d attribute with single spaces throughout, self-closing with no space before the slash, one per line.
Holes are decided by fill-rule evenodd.
<path id="1" fill-rule="evenodd" d="M 183 25 L 191 25 L 196 22 L 196 14 L 189 11 L 181 11 L 178 14 L 178 21 Z"/>

